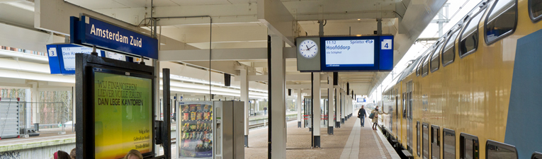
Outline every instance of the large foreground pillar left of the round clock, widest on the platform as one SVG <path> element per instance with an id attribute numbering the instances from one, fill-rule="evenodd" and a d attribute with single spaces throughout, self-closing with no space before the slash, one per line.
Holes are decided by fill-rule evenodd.
<path id="1" fill-rule="evenodd" d="M 286 158 L 286 60 L 283 54 L 284 41 L 282 37 L 271 35 L 271 90 L 269 106 L 271 113 L 270 153 L 271 158 Z"/>

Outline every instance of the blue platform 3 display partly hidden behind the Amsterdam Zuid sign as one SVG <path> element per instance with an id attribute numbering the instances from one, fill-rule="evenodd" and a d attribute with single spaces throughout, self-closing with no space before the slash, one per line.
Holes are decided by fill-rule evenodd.
<path id="1" fill-rule="evenodd" d="M 51 74 L 75 74 L 75 54 L 90 54 L 91 52 L 91 47 L 81 47 L 79 45 L 47 45 Z M 103 50 L 96 49 L 96 52 L 100 57 L 106 55 Z"/>

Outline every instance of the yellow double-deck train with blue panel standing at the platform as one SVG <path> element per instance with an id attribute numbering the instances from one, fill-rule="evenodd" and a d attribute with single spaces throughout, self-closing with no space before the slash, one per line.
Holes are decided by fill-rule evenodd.
<path id="1" fill-rule="evenodd" d="M 542 0 L 482 1 L 383 91 L 414 158 L 542 158 Z"/>

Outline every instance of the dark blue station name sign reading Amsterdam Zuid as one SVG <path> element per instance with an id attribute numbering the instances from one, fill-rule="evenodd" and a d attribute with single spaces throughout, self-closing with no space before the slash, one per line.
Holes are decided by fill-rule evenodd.
<path id="1" fill-rule="evenodd" d="M 90 16 L 70 17 L 70 42 L 158 59 L 158 40 Z"/>

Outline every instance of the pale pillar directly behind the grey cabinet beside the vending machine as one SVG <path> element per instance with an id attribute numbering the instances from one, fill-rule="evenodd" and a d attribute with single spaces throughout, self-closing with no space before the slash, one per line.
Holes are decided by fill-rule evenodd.
<path id="1" fill-rule="evenodd" d="M 247 76 L 247 69 L 241 69 L 240 71 L 240 83 L 241 83 L 241 101 L 244 102 L 244 147 L 249 147 L 249 80 Z"/>

